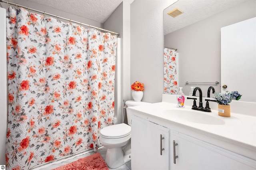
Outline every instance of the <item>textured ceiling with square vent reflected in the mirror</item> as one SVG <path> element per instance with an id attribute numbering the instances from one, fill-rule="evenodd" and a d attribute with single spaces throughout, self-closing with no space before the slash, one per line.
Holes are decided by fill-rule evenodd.
<path id="1" fill-rule="evenodd" d="M 164 10 L 164 35 L 223 12 L 248 0 L 178 0 Z M 184 13 L 176 18 L 167 13 L 179 8 Z"/>

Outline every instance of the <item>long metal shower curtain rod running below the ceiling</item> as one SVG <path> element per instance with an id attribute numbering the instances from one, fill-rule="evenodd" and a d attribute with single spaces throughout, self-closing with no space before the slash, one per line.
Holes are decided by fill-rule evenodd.
<path id="1" fill-rule="evenodd" d="M 116 35 L 118 35 L 118 36 L 120 35 L 119 33 L 116 33 L 116 32 L 112 32 L 112 31 L 109 31 L 109 30 L 105 30 L 105 29 L 102 29 L 102 28 L 98 28 L 98 27 L 95 27 L 95 26 L 91 26 L 91 25 L 88 25 L 88 24 L 84 24 L 84 23 L 82 23 L 82 22 L 77 22 L 77 21 L 74 21 L 74 20 L 70 20 L 70 19 L 68 19 L 68 18 L 64 18 L 64 17 L 61 17 L 61 16 L 57 16 L 57 15 L 54 15 L 54 14 L 50 14 L 50 13 L 48 13 L 48 12 L 36 10 L 36 9 L 34 9 L 34 8 L 29 8 L 29 7 L 27 7 L 27 6 L 23 6 L 23 5 L 20 5 L 20 4 L 16 4 L 16 3 L 13 3 L 13 2 L 9 2 L 8 0 L 7 0 L 7 1 L 6 1 L 6 0 L 0 0 L 0 2 L 4 2 L 4 3 L 8 4 L 8 5 L 15 5 L 15 6 L 17 6 L 17 7 L 22 7 L 22 8 L 27 9 L 28 11 L 29 11 L 29 10 L 32 10 L 32 11 L 35 11 L 35 12 L 40 12 L 40 13 L 42 13 L 42 14 L 44 14 L 44 15 L 46 14 L 46 15 L 49 15 L 49 16 L 56 17 L 57 19 L 60 18 L 60 19 L 62 19 L 62 20 L 67 20 L 67 21 L 69 21 L 69 22 L 74 22 L 74 23 L 76 23 L 76 24 L 80 24 L 81 26 L 84 25 L 84 26 L 88 26 L 88 27 L 90 27 L 90 28 L 95 28 L 95 29 L 97 29 L 97 30 L 102 30 L 102 31 L 104 31 L 104 32 L 110 32 L 110 33 L 116 34 Z"/>

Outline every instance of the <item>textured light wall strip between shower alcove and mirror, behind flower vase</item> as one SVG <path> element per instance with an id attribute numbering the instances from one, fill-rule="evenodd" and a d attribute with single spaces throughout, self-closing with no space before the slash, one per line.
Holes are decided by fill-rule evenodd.
<path id="1" fill-rule="evenodd" d="M 131 83 L 144 83 L 142 101 L 164 93 L 163 11 L 176 0 L 135 0 L 131 4 Z"/>

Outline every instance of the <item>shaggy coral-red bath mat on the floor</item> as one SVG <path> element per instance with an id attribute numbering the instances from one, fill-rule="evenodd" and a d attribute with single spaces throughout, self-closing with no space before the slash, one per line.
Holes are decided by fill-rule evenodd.
<path id="1" fill-rule="evenodd" d="M 80 158 L 53 170 L 109 170 L 100 153 Z"/>

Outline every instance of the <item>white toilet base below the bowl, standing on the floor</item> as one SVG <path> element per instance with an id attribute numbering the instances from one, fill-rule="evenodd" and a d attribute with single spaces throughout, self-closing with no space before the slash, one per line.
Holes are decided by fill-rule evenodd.
<path id="1" fill-rule="evenodd" d="M 124 155 L 122 148 L 107 149 L 105 162 L 109 168 L 115 169 L 131 160 L 131 154 Z"/>

